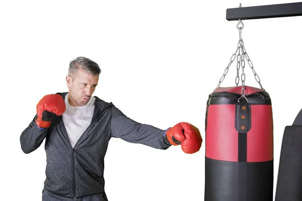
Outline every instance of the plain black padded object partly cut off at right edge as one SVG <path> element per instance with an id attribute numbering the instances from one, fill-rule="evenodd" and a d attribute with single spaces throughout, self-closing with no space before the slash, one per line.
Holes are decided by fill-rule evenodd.
<path id="1" fill-rule="evenodd" d="M 302 200 L 302 109 L 284 129 L 275 201 Z"/>

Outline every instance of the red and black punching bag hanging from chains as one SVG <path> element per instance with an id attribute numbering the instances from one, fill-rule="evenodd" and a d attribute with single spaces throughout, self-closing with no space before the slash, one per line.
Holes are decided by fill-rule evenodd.
<path id="1" fill-rule="evenodd" d="M 205 201 L 272 201 L 273 116 L 269 94 L 218 87 L 205 120 Z M 239 100 L 240 99 L 240 100 Z"/>

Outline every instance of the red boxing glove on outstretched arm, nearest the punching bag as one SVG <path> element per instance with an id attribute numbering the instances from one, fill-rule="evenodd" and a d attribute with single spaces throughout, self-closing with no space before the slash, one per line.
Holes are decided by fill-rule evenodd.
<path id="1" fill-rule="evenodd" d="M 201 134 L 192 124 L 181 122 L 169 128 L 165 134 L 171 145 L 181 145 L 183 152 L 193 154 L 199 151 L 202 144 Z"/>

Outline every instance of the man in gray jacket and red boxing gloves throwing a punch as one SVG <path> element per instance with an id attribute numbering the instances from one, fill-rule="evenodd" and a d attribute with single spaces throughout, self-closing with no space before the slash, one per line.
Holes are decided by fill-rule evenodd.
<path id="1" fill-rule="evenodd" d="M 89 58 L 72 60 L 66 76 L 68 92 L 45 95 L 20 136 L 26 154 L 45 139 L 42 201 L 107 201 L 104 157 L 112 137 L 162 150 L 181 144 L 189 154 L 201 147 L 200 132 L 191 124 L 182 122 L 161 130 L 135 122 L 112 103 L 92 96 L 100 72 L 99 65 Z"/>

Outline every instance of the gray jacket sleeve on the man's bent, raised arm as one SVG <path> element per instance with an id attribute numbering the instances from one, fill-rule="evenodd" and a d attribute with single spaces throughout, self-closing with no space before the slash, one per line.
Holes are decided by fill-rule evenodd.
<path id="1" fill-rule="evenodd" d="M 20 136 L 21 149 L 26 154 L 31 153 L 40 147 L 48 132 L 48 128 L 39 128 L 36 125 L 35 119 L 36 117 Z"/>

